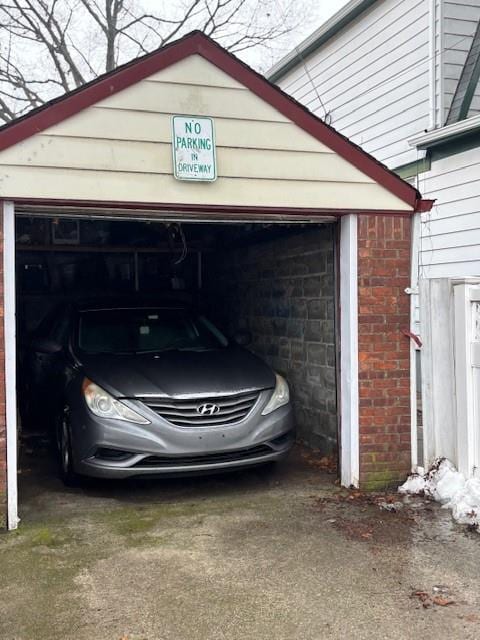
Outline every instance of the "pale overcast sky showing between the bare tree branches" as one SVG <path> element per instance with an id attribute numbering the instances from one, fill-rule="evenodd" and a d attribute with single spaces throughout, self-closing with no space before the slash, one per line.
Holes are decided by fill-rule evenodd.
<path id="1" fill-rule="evenodd" d="M 185 7 L 191 5 L 192 0 L 130 0 L 132 6 L 136 7 L 137 13 L 140 15 L 141 10 L 145 10 L 147 14 L 168 16 L 175 20 L 185 15 Z M 265 30 L 273 30 L 278 32 L 282 30 L 282 26 L 287 27 L 287 33 L 283 36 L 267 39 L 265 46 L 247 49 L 234 49 L 234 53 L 242 58 L 247 64 L 251 65 L 261 73 L 266 73 L 271 67 L 281 60 L 285 55 L 292 51 L 298 44 L 328 20 L 334 13 L 347 4 L 348 0 L 245 0 L 245 5 L 238 0 L 238 4 L 244 10 L 240 10 L 234 19 L 220 24 L 220 31 L 216 31 L 215 38 L 220 38 L 220 44 L 231 46 L 238 40 L 243 29 L 239 30 L 239 25 L 243 27 L 250 25 L 250 33 L 264 33 Z M 138 3 L 138 4 L 137 4 Z M 210 6 L 210 0 L 208 0 Z M 1 2 L 0 2 L 1 4 Z M 5 3 L 6 4 L 6 3 Z M 215 4 L 215 0 L 211 0 L 211 4 Z M 224 3 L 225 4 L 225 3 Z M 105 69 L 105 42 L 104 37 L 98 25 L 92 20 L 91 16 L 84 12 L 81 14 L 77 11 L 76 21 L 71 22 L 68 14 L 72 7 L 75 6 L 75 0 L 61 0 L 58 5 L 60 20 L 64 20 L 69 24 L 69 32 L 66 41 L 71 42 L 70 53 L 75 63 L 80 69 L 85 80 L 89 80 L 94 74 L 102 73 Z M 62 13 L 62 6 L 65 11 Z M 79 5 L 80 6 L 80 5 Z M 208 19 L 208 13 L 205 14 L 205 6 L 201 4 L 203 9 L 199 10 L 198 15 L 189 15 L 187 24 L 178 32 L 178 35 L 184 35 L 191 29 L 198 28 L 195 24 L 196 20 Z M 235 6 L 235 2 L 234 2 Z M 140 8 L 140 11 L 138 9 Z M 252 12 L 253 9 L 253 12 Z M 202 13 L 203 12 L 203 13 Z M 228 8 L 227 8 L 228 12 Z M 83 17 L 82 17 L 83 16 Z M 220 20 L 220 17 L 217 19 Z M 83 23 L 82 23 L 83 20 Z M 6 23 L 5 23 L 6 24 Z M 203 22 L 201 22 L 203 24 Z M 252 26 L 253 25 L 253 26 Z M 8 26 L 8 25 L 7 25 Z M 293 31 L 288 31 L 294 26 Z M 2 24 L 0 24 L 0 34 L 2 33 Z M 156 28 L 145 30 L 142 26 L 138 26 L 138 33 L 135 31 L 135 25 L 132 27 L 131 38 L 123 38 L 120 42 L 121 53 L 118 62 L 121 64 L 127 60 L 139 55 L 137 41 L 145 43 L 145 49 L 151 50 L 158 46 L 160 40 Z M 165 22 L 166 36 L 173 27 L 168 26 Z M 47 48 L 40 43 L 32 44 L 32 39 L 25 40 L 22 36 L 22 30 L 17 30 L 17 35 L 13 41 L 11 34 L 9 38 L 0 39 L 0 52 L 2 54 L 12 54 L 13 63 L 21 69 L 22 74 L 28 78 L 30 85 L 34 86 L 41 100 L 53 98 L 55 95 L 63 92 L 61 83 L 58 81 L 59 76 L 55 72 L 55 67 L 47 53 Z M 223 40 L 221 39 L 223 34 Z M 28 35 L 28 34 L 27 34 Z M 149 39 L 147 39 L 149 36 Z M 34 41 L 34 40 L 33 40 Z M 242 43 L 240 42 L 240 45 Z M 9 48 L 10 47 L 10 48 Z M 86 62 L 86 60 L 88 62 Z M 74 83 L 69 77 L 70 88 L 74 87 Z M 34 84 L 36 83 L 36 84 Z M 5 83 L 4 83 L 5 85 Z M 3 86 L 4 86 L 3 85 Z M 0 88 L 2 85 L 0 84 Z M 14 83 L 7 85 L 9 93 L 12 93 L 7 102 L 10 109 L 15 115 L 20 115 L 24 111 L 31 108 L 32 104 L 29 95 L 22 93 L 21 87 Z M 1 113 L 1 112 L 0 112 Z M 1 124 L 1 121 L 0 121 Z"/>

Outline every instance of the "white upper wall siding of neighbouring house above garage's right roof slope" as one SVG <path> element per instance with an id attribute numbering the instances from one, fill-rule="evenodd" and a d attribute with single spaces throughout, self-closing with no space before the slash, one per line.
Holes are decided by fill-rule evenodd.
<path id="1" fill-rule="evenodd" d="M 430 0 L 382 0 L 279 81 L 377 159 L 417 159 L 408 139 L 429 126 Z"/>

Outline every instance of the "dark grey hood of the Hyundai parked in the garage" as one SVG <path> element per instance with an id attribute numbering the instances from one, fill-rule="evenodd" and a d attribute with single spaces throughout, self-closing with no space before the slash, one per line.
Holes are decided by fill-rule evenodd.
<path id="1" fill-rule="evenodd" d="M 85 374 L 117 397 L 239 393 L 275 386 L 260 358 L 237 347 L 138 355 L 82 354 Z"/>

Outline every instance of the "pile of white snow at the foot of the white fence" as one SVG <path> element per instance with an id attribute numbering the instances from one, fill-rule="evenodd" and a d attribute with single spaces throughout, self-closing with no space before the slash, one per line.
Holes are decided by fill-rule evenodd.
<path id="1" fill-rule="evenodd" d="M 466 480 L 450 460 L 438 458 L 424 476 L 412 474 L 398 490 L 433 498 L 445 509 L 451 509 L 457 522 L 480 532 L 480 480 Z"/>

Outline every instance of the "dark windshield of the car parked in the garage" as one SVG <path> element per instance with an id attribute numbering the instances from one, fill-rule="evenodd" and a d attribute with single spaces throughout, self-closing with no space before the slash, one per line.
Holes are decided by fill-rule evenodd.
<path id="1" fill-rule="evenodd" d="M 204 351 L 228 344 L 204 316 L 185 309 L 108 309 L 83 311 L 78 346 L 87 353 Z"/>

